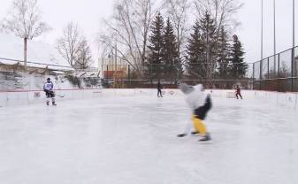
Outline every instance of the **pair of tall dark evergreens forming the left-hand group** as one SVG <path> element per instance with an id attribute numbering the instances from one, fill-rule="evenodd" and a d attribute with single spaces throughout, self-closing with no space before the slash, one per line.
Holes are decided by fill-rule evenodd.
<path id="1" fill-rule="evenodd" d="M 170 19 L 157 13 L 150 27 L 149 54 L 144 73 L 150 79 L 178 79 L 183 73 L 176 35 Z"/>

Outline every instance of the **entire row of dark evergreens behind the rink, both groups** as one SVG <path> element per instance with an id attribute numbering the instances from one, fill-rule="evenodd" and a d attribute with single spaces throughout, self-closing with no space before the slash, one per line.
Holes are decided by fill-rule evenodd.
<path id="1" fill-rule="evenodd" d="M 186 56 L 179 58 L 177 37 L 170 19 L 157 13 L 149 36 L 144 73 L 150 79 L 243 79 L 248 65 L 237 35 L 217 30 L 208 13 L 197 19 L 187 39 Z M 184 65 L 182 65 L 182 63 Z"/>

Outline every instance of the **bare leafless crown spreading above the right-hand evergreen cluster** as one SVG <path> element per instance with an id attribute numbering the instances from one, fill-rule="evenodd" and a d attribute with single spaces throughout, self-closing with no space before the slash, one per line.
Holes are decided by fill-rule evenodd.
<path id="1" fill-rule="evenodd" d="M 242 5 L 238 0 L 194 0 L 197 18 L 202 18 L 208 13 L 215 21 L 217 32 L 221 27 L 226 31 L 232 31 L 240 23 L 235 15 Z"/>

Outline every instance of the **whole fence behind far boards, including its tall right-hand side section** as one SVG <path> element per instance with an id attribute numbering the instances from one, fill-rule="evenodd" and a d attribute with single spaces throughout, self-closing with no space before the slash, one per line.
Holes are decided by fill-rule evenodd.
<path id="1" fill-rule="evenodd" d="M 197 67 L 202 67 L 202 65 L 208 64 L 198 64 Z M 210 65 L 216 67 L 216 64 Z M 191 80 L 188 80 L 186 76 L 193 74 L 191 73 L 192 71 L 188 71 L 186 66 L 183 66 L 184 76 L 181 77 L 182 75 L 180 75 L 177 67 L 175 65 L 172 66 L 172 68 L 166 65 L 141 66 L 149 67 L 149 70 L 147 70 L 149 73 L 143 74 L 143 77 L 139 80 L 134 78 L 134 71 L 132 71 L 131 65 L 102 65 L 102 77 L 111 88 L 153 87 L 153 84 L 157 80 L 163 80 L 171 81 L 172 84 L 177 84 L 178 81 L 188 83 L 200 82 L 213 88 L 233 88 L 235 84 L 241 84 L 244 88 L 256 90 L 298 92 L 298 46 L 256 61 L 255 63 L 248 63 L 247 73 L 240 79 L 233 79 L 229 75 L 223 77 L 213 74 L 212 79 L 202 78 L 204 79 L 202 80 L 199 77 L 200 73 L 196 73 L 198 74 L 196 79 L 193 76 Z M 165 71 L 164 75 L 155 75 L 158 71 L 162 71 L 163 67 L 169 67 L 169 70 Z M 202 68 L 200 70 L 202 71 Z"/>

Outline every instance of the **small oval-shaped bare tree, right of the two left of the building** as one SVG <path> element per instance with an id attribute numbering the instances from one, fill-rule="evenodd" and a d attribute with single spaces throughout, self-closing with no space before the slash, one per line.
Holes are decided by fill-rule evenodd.
<path id="1" fill-rule="evenodd" d="M 83 39 L 75 58 L 75 67 L 77 69 L 87 69 L 92 63 L 92 54 L 87 40 Z"/>

